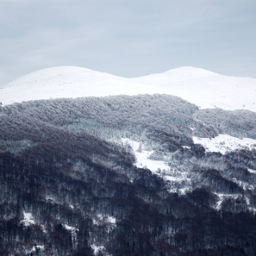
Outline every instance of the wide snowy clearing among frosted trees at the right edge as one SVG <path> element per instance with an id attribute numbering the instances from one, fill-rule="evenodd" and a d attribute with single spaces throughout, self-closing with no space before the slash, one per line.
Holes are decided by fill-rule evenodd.
<path id="1" fill-rule="evenodd" d="M 195 144 L 201 144 L 206 151 L 220 152 L 233 151 L 235 149 L 256 149 L 256 139 L 243 138 L 239 139 L 228 134 L 219 134 L 215 138 L 193 137 Z"/>

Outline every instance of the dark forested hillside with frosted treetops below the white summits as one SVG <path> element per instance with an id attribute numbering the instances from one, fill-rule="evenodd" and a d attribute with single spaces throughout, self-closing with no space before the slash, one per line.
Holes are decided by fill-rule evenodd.
<path id="1" fill-rule="evenodd" d="M 0 106 L 0 124 L 0 255 L 256 255 L 256 150 L 193 143 L 256 139 L 255 112 L 121 95 Z"/>

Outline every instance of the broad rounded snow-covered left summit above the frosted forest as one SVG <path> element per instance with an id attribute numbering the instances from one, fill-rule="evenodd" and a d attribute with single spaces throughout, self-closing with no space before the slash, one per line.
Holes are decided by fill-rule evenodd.
<path id="1" fill-rule="evenodd" d="M 39 70 L 10 82 L 0 89 L 0 102 L 8 105 L 27 100 L 139 93 L 144 91 L 126 78 L 87 68 L 63 66 Z"/>

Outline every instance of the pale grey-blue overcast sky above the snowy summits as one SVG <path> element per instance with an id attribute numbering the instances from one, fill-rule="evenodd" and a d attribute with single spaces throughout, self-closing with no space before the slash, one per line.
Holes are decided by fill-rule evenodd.
<path id="1" fill-rule="evenodd" d="M 56 65 L 256 78 L 256 1 L 1 0 L 0 49 L 0 87 Z"/>

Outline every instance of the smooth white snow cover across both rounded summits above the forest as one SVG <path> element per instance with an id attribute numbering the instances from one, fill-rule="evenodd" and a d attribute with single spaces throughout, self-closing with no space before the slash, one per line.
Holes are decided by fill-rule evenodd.
<path id="1" fill-rule="evenodd" d="M 0 102 L 87 96 L 176 95 L 201 108 L 245 109 L 256 112 L 256 79 L 235 78 L 181 67 L 141 78 L 120 78 L 87 68 L 46 68 L 18 78 L 0 89 Z"/>

